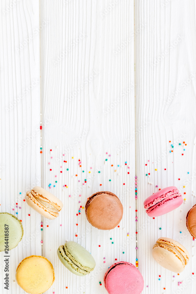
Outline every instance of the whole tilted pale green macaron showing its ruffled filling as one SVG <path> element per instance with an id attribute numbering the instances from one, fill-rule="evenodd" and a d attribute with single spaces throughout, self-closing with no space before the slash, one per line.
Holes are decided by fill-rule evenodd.
<path id="1" fill-rule="evenodd" d="M 91 253 L 73 241 L 68 241 L 65 245 L 59 246 L 57 255 L 63 265 L 75 275 L 88 275 L 96 265 Z"/>

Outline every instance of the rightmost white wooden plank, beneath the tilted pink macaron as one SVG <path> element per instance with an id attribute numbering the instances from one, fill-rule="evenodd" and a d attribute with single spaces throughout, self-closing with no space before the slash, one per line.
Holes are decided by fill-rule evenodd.
<path id="1" fill-rule="evenodd" d="M 143 293 L 194 293 L 195 242 L 186 228 L 186 214 L 196 202 L 192 192 L 196 134 L 195 1 L 137 1 L 135 9 L 135 26 L 140 32 L 135 42 L 136 171 L 138 262 L 145 278 Z M 146 176 L 148 173 L 150 176 Z M 155 220 L 149 218 L 144 213 L 145 198 L 159 188 L 173 185 L 186 202 Z M 179 276 L 161 268 L 152 257 L 154 243 L 166 236 L 182 243 L 190 253 L 189 264 Z M 178 282 L 182 284 L 178 286 Z"/>

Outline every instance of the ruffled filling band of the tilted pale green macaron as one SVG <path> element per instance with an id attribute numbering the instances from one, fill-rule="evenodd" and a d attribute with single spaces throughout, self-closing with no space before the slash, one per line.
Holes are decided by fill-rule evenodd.
<path id="1" fill-rule="evenodd" d="M 87 268 L 82 266 L 78 261 L 76 261 L 73 256 L 71 254 L 68 253 L 68 250 L 66 248 L 66 244 L 59 246 L 58 248 L 61 256 L 67 261 L 67 263 L 77 272 L 83 274 L 83 275 L 87 275 L 89 274 L 92 270 L 94 270 L 93 268 Z M 85 270 L 87 269 L 87 270 Z"/>

